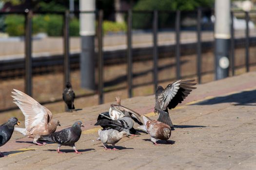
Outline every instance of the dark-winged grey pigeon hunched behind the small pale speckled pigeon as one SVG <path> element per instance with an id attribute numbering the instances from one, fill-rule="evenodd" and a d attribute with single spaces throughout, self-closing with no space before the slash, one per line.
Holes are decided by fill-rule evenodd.
<path id="1" fill-rule="evenodd" d="M 102 114 L 100 114 L 100 116 L 102 116 L 102 119 L 98 119 L 95 125 L 100 125 L 103 129 L 112 128 L 117 130 L 118 132 L 124 131 L 128 135 L 137 136 L 135 135 L 136 130 L 133 128 L 134 123 L 129 112 L 125 112 L 124 117 L 119 118 L 117 120 L 112 120 L 110 118 L 107 118 L 106 115 L 102 115 Z M 131 134 L 130 131 L 131 132 L 135 131 L 135 134 Z"/>

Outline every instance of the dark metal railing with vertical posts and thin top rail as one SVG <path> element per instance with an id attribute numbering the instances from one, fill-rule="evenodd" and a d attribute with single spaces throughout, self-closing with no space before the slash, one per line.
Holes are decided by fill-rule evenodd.
<path id="1" fill-rule="evenodd" d="M 180 73 L 180 15 L 181 11 L 118 11 L 121 13 L 127 14 L 127 91 L 128 97 L 133 97 L 133 47 L 132 47 L 132 16 L 133 13 L 150 13 L 153 14 L 152 21 L 152 34 L 153 34 L 153 84 L 156 90 L 158 86 L 158 14 L 163 13 L 175 13 L 175 32 L 176 32 L 176 78 L 181 78 Z M 103 67 L 104 67 L 104 58 L 103 58 L 103 39 L 102 39 L 102 22 L 103 22 L 103 11 L 74 11 L 74 12 L 32 12 L 26 10 L 25 12 L 0 12 L 0 15 L 7 14 L 23 14 L 25 15 L 25 92 L 32 96 L 32 17 L 33 14 L 59 14 L 63 16 L 64 24 L 63 24 L 63 76 L 64 83 L 70 81 L 70 50 L 69 50 L 69 17 L 70 14 L 81 14 L 81 13 L 95 13 L 97 15 L 98 26 L 97 26 L 97 38 L 98 38 L 98 103 L 103 103 L 103 88 L 104 88 L 104 77 L 103 77 Z M 202 18 L 202 9 L 198 9 L 197 13 L 197 79 L 198 83 L 201 83 L 201 18 Z M 235 12 L 231 12 L 231 69 L 232 75 L 235 75 L 235 33 L 234 33 L 234 16 Z M 241 13 L 238 11 L 238 13 Z M 246 71 L 249 69 L 249 13 L 245 12 L 246 16 L 246 43 L 245 43 L 245 65 Z"/>

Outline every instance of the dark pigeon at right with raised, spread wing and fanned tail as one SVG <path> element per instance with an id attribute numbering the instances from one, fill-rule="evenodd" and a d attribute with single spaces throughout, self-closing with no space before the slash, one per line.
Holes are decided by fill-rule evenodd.
<path id="1" fill-rule="evenodd" d="M 158 121 L 168 124 L 174 130 L 168 108 L 175 108 L 178 103 L 181 103 L 190 94 L 192 89 L 197 88 L 193 86 L 196 85 L 196 83 L 192 83 L 194 81 L 178 80 L 173 84 L 167 85 L 165 89 L 160 85 L 158 86 L 155 103 L 155 113 L 158 113 Z"/>

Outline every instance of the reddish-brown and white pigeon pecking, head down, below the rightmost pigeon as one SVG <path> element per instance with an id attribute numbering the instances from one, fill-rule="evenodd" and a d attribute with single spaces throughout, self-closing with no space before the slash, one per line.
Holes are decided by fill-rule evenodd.
<path id="1" fill-rule="evenodd" d="M 150 119 L 144 115 L 142 117 L 144 125 L 139 126 L 138 128 L 147 131 L 151 136 L 151 141 L 155 145 L 159 145 L 157 144 L 158 139 L 167 141 L 170 138 L 171 127 L 169 125 L 157 120 Z"/>

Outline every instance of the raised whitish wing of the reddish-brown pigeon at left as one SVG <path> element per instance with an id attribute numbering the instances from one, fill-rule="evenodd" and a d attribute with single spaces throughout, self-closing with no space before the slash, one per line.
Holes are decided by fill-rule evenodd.
<path id="1" fill-rule="evenodd" d="M 25 116 L 25 127 L 27 131 L 33 133 L 35 126 L 42 126 L 46 128 L 46 125 L 52 119 L 52 113 L 46 107 L 39 104 L 32 97 L 27 94 L 13 89 L 14 103 L 17 104 Z"/>

